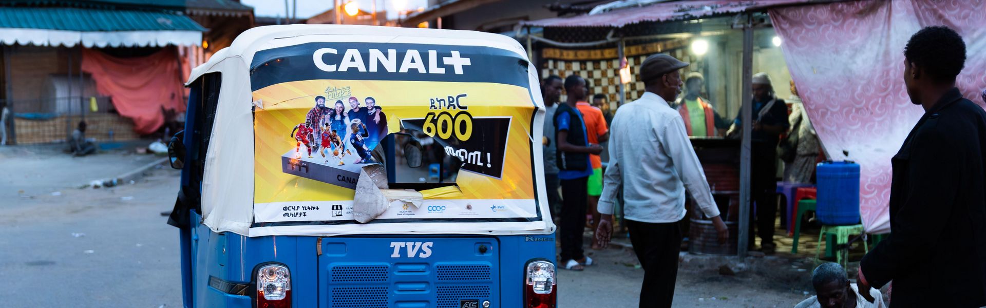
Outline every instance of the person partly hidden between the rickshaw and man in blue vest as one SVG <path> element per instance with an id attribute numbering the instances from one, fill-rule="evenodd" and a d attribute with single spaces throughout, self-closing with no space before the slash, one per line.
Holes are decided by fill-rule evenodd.
<path id="1" fill-rule="evenodd" d="M 550 75 L 541 85 L 544 99 L 544 186 L 548 191 L 548 207 L 552 216 L 558 217 L 561 196 L 558 195 L 558 166 L 555 165 L 554 115 L 561 100 L 561 77 Z"/>

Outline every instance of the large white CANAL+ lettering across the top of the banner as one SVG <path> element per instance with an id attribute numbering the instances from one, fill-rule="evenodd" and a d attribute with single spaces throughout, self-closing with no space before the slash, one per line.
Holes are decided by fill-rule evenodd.
<path id="1" fill-rule="evenodd" d="M 385 52 L 387 52 L 385 54 Z M 458 50 L 451 50 L 448 54 L 439 54 L 438 50 L 426 51 L 428 65 L 422 61 L 421 51 L 407 49 L 403 58 L 397 57 L 396 49 L 370 49 L 368 58 L 363 58 L 360 49 L 346 49 L 340 58 L 339 50 L 335 48 L 318 48 L 312 55 L 315 66 L 326 72 L 345 72 L 350 69 L 359 72 L 378 72 L 385 70 L 388 73 L 407 73 L 417 71 L 421 74 L 445 74 L 445 66 L 452 66 L 456 75 L 462 74 L 462 67 L 472 65 L 472 61 L 467 57 L 462 57 Z M 398 64 L 399 60 L 399 64 Z M 439 65 L 439 60 L 441 64 Z M 329 64 L 331 63 L 331 64 Z M 383 69 L 381 69 L 383 66 Z"/>

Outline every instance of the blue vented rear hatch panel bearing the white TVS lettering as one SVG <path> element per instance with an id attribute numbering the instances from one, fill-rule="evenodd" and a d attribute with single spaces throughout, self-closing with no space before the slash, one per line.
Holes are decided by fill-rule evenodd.
<path id="1" fill-rule="evenodd" d="M 472 299 L 503 307 L 499 255 L 495 237 L 322 238 L 319 304 L 459 308 Z"/>

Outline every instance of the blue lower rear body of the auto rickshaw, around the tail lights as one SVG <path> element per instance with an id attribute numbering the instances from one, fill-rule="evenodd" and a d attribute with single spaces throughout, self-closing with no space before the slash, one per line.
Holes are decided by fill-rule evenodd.
<path id="1" fill-rule="evenodd" d="M 521 307 L 524 267 L 555 263 L 554 235 L 325 237 L 318 256 L 317 237 L 248 238 L 212 232 L 199 220 L 192 215 L 195 307 L 251 307 L 251 294 L 222 293 L 209 286 L 209 277 L 250 283 L 253 269 L 269 262 L 291 270 L 294 307 L 458 308 L 462 299 Z M 404 244 L 396 247 L 397 257 L 391 243 Z M 432 244 L 425 249 L 425 243 Z"/>

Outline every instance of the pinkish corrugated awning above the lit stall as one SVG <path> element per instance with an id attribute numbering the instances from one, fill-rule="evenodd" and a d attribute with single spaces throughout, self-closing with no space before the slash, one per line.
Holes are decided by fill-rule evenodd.
<path id="1" fill-rule="evenodd" d="M 643 22 L 667 22 L 691 20 L 720 15 L 736 14 L 745 11 L 763 10 L 773 7 L 801 5 L 809 3 L 837 2 L 840 0 L 699 0 L 669 1 L 644 7 L 616 9 L 609 12 L 559 17 L 537 21 L 522 22 L 523 26 L 533 27 L 613 27 Z"/>

